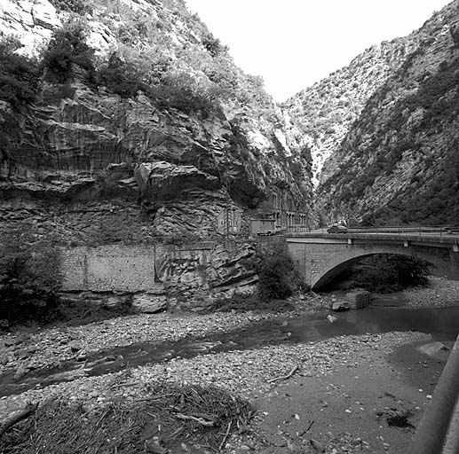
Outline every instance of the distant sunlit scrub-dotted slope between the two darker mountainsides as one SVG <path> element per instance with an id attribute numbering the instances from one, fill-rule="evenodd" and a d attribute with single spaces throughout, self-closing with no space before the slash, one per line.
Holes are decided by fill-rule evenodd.
<path id="1" fill-rule="evenodd" d="M 348 67 L 283 103 L 303 142 L 311 148 L 315 184 L 323 183 L 334 172 L 334 164 L 324 166 L 325 161 L 359 118 L 368 98 L 400 67 L 415 43 L 416 35 L 411 34 L 374 45 Z"/>

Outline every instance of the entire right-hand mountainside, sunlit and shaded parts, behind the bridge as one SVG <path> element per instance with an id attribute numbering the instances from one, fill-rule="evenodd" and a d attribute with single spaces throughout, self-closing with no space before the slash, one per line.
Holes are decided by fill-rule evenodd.
<path id="1" fill-rule="evenodd" d="M 457 223 L 458 5 L 285 103 L 325 223 Z"/>

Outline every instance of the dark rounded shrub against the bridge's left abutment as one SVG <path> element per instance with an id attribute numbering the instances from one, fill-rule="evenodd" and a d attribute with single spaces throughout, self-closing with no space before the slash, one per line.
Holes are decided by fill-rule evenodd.
<path id="1" fill-rule="evenodd" d="M 263 299 L 282 299 L 300 284 L 299 274 L 286 245 L 276 245 L 260 254 L 258 294 Z"/>

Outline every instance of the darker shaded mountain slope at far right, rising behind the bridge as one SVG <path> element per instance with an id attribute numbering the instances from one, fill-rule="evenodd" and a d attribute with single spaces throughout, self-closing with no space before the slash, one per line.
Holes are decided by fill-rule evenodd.
<path id="1" fill-rule="evenodd" d="M 318 204 L 330 220 L 458 223 L 459 2 L 435 13 L 333 154 Z"/>

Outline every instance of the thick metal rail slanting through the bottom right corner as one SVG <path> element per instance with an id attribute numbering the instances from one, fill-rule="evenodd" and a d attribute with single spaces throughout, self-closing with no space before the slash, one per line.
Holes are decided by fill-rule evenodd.
<path id="1" fill-rule="evenodd" d="M 408 454 L 459 452 L 459 336 L 411 442 Z"/>

